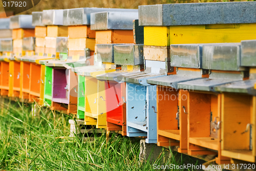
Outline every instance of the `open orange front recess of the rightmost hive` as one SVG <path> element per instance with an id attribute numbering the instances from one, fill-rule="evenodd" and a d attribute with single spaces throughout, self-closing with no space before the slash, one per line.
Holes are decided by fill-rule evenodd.
<path id="1" fill-rule="evenodd" d="M 251 100 L 251 96 L 246 96 L 244 94 L 222 94 L 222 150 L 249 150 L 250 131 L 245 132 L 245 129 L 246 125 L 251 123 Z"/>

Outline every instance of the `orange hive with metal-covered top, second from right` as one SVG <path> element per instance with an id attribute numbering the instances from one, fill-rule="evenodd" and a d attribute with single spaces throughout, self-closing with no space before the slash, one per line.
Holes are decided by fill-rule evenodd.
<path id="1" fill-rule="evenodd" d="M 227 50 L 230 53 L 226 53 Z M 219 58 L 217 58 L 217 56 Z M 243 80 L 246 76 L 245 68 L 241 67 L 239 44 L 203 45 L 204 69 L 211 69 L 209 78 L 179 83 L 181 88 L 188 89 L 188 154 L 209 155 L 218 151 L 218 163 L 229 163 L 230 160 L 221 154 L 221 129 L 218 124 L 222 122 L 221 94 L 215 86 Z M 223 65 L 225 64 L 225 65 Z"/>

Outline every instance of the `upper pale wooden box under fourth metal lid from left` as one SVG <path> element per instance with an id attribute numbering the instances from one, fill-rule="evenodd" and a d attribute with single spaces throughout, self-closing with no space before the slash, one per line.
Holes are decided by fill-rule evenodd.
<path id="1" fill-rule="evenodd" d="M 47 36 L 49 37 L 67 37 L 68 26 L 47 26 Z"/>

